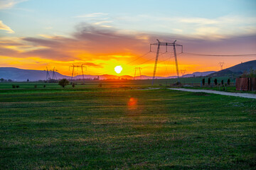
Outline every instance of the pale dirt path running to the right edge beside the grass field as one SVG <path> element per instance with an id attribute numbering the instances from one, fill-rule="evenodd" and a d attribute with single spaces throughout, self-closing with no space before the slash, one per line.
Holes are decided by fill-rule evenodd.
<path id="1" fill-rule="evenodd" d="M 170 90 L 178 90 L 178 91 L 190 91 L 190 92 L 203 92 L 208 94 L 220 94 L 225 96 L 237 96 L 237 97 L 243 97 L 243 98 L 256 98 L 256 94 L 240 94 L 240 93 L 231 93 L 231 92 L 225 92 L 225 91 L 213 91 L 213 90 L 200 90 L 200 89 L 175 89 L 175 88 L 168 88 Z"/>

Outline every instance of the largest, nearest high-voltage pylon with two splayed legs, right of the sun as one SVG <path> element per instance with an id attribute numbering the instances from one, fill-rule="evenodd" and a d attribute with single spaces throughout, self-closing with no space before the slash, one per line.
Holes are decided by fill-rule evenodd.
<path id="1" fill-rule="evenodd" d="M 156 39 L 157 40 L 157 39 Z M 175 64 L 176 64 L 176 72 L 177 72 L 177 77 L 178 77 L 178 82 L 180 82 L 179 79 L 179 74 L 178 74 L 178 60 L 177 60 L 177 55 L 176 55 L 176 46 L 181 46 L 181 53 L 183 52 L 183 46 L 176 44 L 176 40 L 174 42 L 158 42 L 150 44 L 150 51 L 151 51 L 151 45 L 157 45 L 157 50 L 156 50 L 156 61 L 154 64 L 154 72 L 153 72 L 153 78 L 152 78 L 152 85 L 154 84 L 154 78 L 156 77 L 156 67 L 157 67 L 157 62 L 158 62 L 158 57 L 159 57 L 159 50 L 161 45 L 166 46 L 166 52 L 167 52 L 167 47 L 168 46 L 173 46 L 174 47 L 174 58 L 175 58 Z"/>

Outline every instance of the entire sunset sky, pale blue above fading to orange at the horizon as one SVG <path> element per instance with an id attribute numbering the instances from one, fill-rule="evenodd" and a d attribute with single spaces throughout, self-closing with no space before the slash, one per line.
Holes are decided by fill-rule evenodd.
<path id="1" fill-rule="evenodd" d="M 186 73 L 218 71 L 219 62 L 227 68 L 256 55 L 190 53 L 256 54 L 255 8 L 255 0 L 0 0 L 0 67 L 70 75 L 72 64 L 84 64 L 85 74 L 117 75 L 121 65 L 118 75 L 141 67 L 151 76 L 156 46 L 149 52 L 149 45 L 159 39 L 183 45 L 178 66 Z M 156 76 L 176 75 L 168 50 Z"/>

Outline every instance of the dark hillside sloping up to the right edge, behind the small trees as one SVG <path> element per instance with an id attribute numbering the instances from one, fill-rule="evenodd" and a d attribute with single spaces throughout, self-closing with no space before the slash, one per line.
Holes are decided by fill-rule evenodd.
<path id="1" fill-rule="evenodd" d="M 231 76 L 231 75 L 238 76 L 243 72 L 250 72 L 250 69 L 256 69 L 256 60 L 252 60 L 250 62 L 243 62 L 233 67 L 220 70 L 219 72 L 209 74 L 208 76 L 209 77 L 224 77 L 224 76 Z"/>

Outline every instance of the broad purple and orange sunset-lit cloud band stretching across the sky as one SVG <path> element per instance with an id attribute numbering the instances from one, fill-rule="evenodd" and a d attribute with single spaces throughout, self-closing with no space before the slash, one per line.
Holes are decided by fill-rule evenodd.
<path id="1" fill-rule="evenodd" d="M 0 38 L 0 56 L 8 57 L 10 63 L 13 61 L 34 60 L 41 63 L 51 63 L 58 69 L 63 68 L 68 73 L 68 66 L 71 64 L 85 64 L 90 72 L 102 73 L 106 70 L 112 70 L 114 66 L 130 67 L 133 72 L 134 67 L 149 66 L 144 69 L 145 72 L 151 72 L 154 66 L 155 52 L 149 52 L 150 43 L 156 42 L 158 38 L 161 42 L 173 42 L 177 40 L 178 44 L 183 45 L 184 52 L 211 54 L 211 55 L 229 55 L 231 54 L 250 54 L 255 52 L 256 35 L 240 36 L 237 38 L 226 36 L 225 38 L 208 38 L 210 35 L 218 36 L 218 27 L 201 26 L 195 29 L 198 33 L 196 36 L 179 34 L 154 34 L 139 33 L 131 30 L 120 30 L 117 28 L 103 28 L 100 25 L 80 23 L 75 27 L 75 31 L 68 37 L 56 35 L 40 35 L 40 37 L 23 37 L 23 38 Z M 253 28 L 248 27 L 252 30 Z M 166 48 L 161 47 L 161 52 Z M 172 52 L 172 48 L 169 50 Z M 181 49 L 177 47 L 177 52 Z M 156 46 L 152 47 L 156 51 Z M 149 55 L 140 57 L 139 60 L 130 63 L 139 56 L 149 52 Z M 159 62 L 167 59 L 170 54 L 161 55 Z M 164 58 L 165 57 L 165 58 Z M 153 60 L 149 60 L 153 58 Z M 20 60 L 18 60 L 20 59 Z M 211 59 L 211 60 L 210 60 Z M 253 60 L 253 58 L 251 57 Z M 146 62 L 148 61 L 149 62 Z M 204 62 L 209 62 L 210 67 L 214 62 L 218 65 L 216 57 L 196 56 L 183 53 L 178 55 L 178 63 L 196 65 L 203 70 Z M 7 61 L 7 59 L 6 59 Z M 238 60 L 230 60 L 235 62 Z M 242 60 L 245 61 L 245 60 Z M 145 64 L 142 64 L 146 62 Z M 174 64 L 173 58 L 170 61 Z M 26 65 L 26 63 L 23 63 Z M 162 62 L 162 67 L 165 62 Z M 187 67 L 186 67 L 187 68 Z M 189 68 L 188 68 L 189 69 Z M 196 68 L 191 68 L 195 70 Z M 66 70 L 66 71 L 65 71 Z M 88 72 L 89 72 L 88 71 Z M 195 70 L 198 71 L 198 70 Z M 113 73 L 114 74 L 114 73 Z M 130 74 L 127 72 L 127 74 Z"/>

